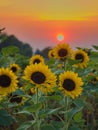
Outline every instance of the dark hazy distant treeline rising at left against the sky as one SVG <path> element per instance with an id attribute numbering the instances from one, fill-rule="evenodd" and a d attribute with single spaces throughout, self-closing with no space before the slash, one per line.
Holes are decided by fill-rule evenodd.
<path id="1" fill-rule="evenodd" d="M 23 43 L 18 38 L 16 38 L 14 35 L 7 35 L 5 33 L 0 35 L 0 52 L 2 48 L 8 47 L 8 46 L 16 46 L 19 48 L 20 53 L 24 56 L 31 57 L 34 54 L 40 54 L 46 59 L 48 58 L 48 51 L 51 49 L 51 47 L 46 47 L 43 50 L 36 49 L 35 52 L 33 52 L 33 48 L 28 43 Z"/>

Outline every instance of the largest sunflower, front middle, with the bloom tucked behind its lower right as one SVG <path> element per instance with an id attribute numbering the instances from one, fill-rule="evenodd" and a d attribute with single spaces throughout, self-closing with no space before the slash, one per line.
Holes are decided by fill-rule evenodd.
<path id="1" fill-rule="evenodd" d="M 42 63 L 27 66 L 23 78 L 45 93 L 52 91 L 53 87 L 56 86 L 55 74 Z"/>

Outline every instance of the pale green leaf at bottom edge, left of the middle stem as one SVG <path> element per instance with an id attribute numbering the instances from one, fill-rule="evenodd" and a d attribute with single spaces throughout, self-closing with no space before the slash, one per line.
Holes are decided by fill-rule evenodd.
<path id="1" fill-rule="evenodd" d="M 17 130 L 27 130 L 28 128 L 30 128 L 34 124 L 35 124 L 35 121 L 26 121 L 23 124 L 21 124 Z"/>

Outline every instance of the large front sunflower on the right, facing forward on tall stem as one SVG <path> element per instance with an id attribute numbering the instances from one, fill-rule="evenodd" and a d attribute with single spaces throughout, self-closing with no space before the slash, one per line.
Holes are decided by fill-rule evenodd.
<path id="1" fill-rule="evenodd" d="M 70 96 L 74 99 L 81 94 L 81 86 L 83 85 L 83 82 L 82 79 L 78 77 L 77 73 L 67 71 L 60 74 L 59 85 L 59 89 L 65 94 L 65 96 Z"/>

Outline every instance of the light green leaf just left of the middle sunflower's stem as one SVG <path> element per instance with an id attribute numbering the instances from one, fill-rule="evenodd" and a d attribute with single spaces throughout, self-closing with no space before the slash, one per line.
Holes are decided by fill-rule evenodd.
<path id="1" fill-rule="evenodd" d="M 34 104 L 33 106 L 29 106 L 24 108 L 24 111 L 28 112 L 36 112 L 42 108 L 42 103 Z"/>

